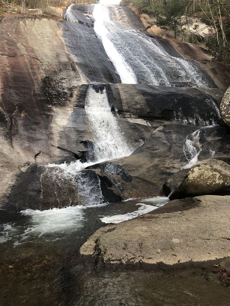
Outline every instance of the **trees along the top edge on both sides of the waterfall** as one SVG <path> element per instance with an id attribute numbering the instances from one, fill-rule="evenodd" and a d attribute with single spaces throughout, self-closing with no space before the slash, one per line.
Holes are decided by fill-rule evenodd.
<path id="1" fill-rule="evenodd" d="M 48 12 L 49 6 L 63 6 L 65 0 L 2 0 L 26 8 Z M 95 0 L 73 0 L 73 3 L 95 3 Z M 216 61 L 230 64 L 230 1 L 229 0 L 122 0 L 121 5 L 135 7 L 139 13 L 156 17 L 156 25 L 174 33 L 174 38 L 206 47 Z M 205 39 L 199 34 L 185 35 L 188 18 L 199 18 L 213 34 Z"/>

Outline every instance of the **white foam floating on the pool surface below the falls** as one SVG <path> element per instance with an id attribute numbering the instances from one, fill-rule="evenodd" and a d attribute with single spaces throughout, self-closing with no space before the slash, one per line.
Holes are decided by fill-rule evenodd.
<path id="1" fill-rule="evenodd" d="M 124 202 L 124 209 L 127 205 L 130 205 L 133 199 Z M 15 223 L 5 223 L 0 226 L 0 244 L 12 241 L 14 246 L 21 245 L 27 242 L 40 241 L 43 239 L 46 241 L 53 241 L 66 237 L 67 235 L 78 232 L 83 227 L 87 226 L 90 222 L 85 218 L 85 213 L 88 208 L 93 209 L 90 218 L 94 220 L 99 218 L 103 223 L 118 223 L 126 220 L 131 220 L 139 215 L 146 214 L 152 210 L 163 206 L 169 199 L 166 197 L 153 197 L 147 199 L 139 199 L 140 203 L 135 205 L 139 208 L 135 211 L 131 211 L 127 214 L 116 215 L 100 215 L 98 208 L 102 209 L 107 204 L 91 205 L 91 206 L 68 206 L 65 208 L 53 208 L 49 210 L 32 210 L 27 209 L 20 213 L 25 216 L 30 216 L 29 222 L 23 222 L 22 225 L 17 226 Z M 148 204 L 146 204 L 146 202 Z M 130 206 L 132 209 L 133 204 Z M 109 208 L 108 208 L 109 210 Z M 107 210 L 106 210 L 107 211 Z M 37 240 L 38 239 L 38 240 Z"/>

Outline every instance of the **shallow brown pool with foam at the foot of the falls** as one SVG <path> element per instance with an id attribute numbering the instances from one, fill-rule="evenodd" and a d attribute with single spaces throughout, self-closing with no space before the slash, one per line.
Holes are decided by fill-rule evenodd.
<path id="1" fill-rule="evenodd" d="M 0 245 L 0 305 L 229 305 L 229 290 L 207 269 L 113 271 L 79 256 L 84 241 L 106 225 L 100 219 L 130 217 L 138 208 L 166 201 L 1 214 L 7 237 Z"/>

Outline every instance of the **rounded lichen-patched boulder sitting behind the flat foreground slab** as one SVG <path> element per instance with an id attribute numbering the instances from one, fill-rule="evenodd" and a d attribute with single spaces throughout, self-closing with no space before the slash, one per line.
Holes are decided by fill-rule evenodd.
<path id="1" fill-rule="evenodd" d="M 169 199 L 210 194 L 230 194 L 230 165 L 217 159 L 203 160 L 174 173 L 163 185 Z"/>

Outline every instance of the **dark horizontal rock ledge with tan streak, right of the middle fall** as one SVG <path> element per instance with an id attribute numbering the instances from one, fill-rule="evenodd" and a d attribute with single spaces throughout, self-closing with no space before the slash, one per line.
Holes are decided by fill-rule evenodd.
<path id="1" fill-rule="evenodd" d="M 84 106 L 88 87 L 82 85 L 76 89 L 77 107 Z M 175 122 L 203 126 L 221 121 L 219 104 L 225 92 L 222 89 L 143 84 L 97 84 L 97 87 L 106 89 L 111 107 L 130 121 L 144 119 L 155 126 L 157 122 L 158 126 Z"/>

